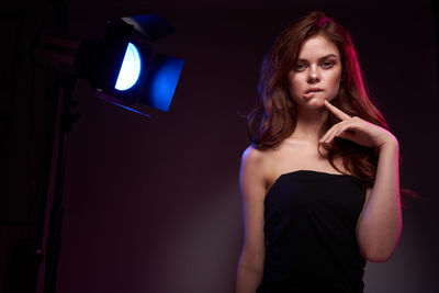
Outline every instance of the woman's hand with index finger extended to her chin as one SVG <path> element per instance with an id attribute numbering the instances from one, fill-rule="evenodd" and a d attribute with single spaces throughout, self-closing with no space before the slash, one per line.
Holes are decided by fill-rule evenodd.
<path id="1" fill-rule="evenodd" d="M 382 147 L 384 143 L 397 142 L 389 131 L 375 124 L 369 123 L 357 116 L 349 116 L 338 108 L 325 100 L 326 108 L 333 112 L 341 122 L 334 124 L 318 140 L 320 144 L 329 144 L 334 137 L 350 139 L 365 147 Z"/>

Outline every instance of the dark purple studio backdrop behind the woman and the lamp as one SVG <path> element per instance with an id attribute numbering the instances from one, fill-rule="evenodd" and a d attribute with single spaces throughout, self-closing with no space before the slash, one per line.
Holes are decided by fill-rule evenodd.
<path id="1" fill-rule="evenodd" d="M 239 160 L 249 145 L 238 112 L 254 105 L 261 58 L 277 33 L 311 10 L 351 33 L 367 84 L 399 140 L 401 184 L 423 196 L 404 212 L 393 258 L 368 263 L 365 292 L 439 291 L 431 3 L 294 2 L 69 1 L 77 38 L 101 38 L 106 18 L 161 13 L 179 32 L 157 48 L 185 64 L 169 112 L 150 111 L 153 119 L 77 83 L 81 117 L 70 135 L 58 292 L 233 292 Z"/>

